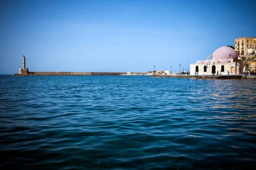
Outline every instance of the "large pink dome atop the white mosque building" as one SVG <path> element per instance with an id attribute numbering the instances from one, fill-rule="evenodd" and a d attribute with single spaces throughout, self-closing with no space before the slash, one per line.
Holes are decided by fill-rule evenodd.
<path id="1" fill-rule="evenodd" d="M 214 51 L 212 59 L 231 59 L 230 54 L 233 55 L 234 59 L 237 59 L 236 51 L 233 48 L 223 46 Z"/>

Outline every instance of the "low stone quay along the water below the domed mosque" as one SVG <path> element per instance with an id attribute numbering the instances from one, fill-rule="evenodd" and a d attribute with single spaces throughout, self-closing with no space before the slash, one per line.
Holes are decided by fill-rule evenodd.
<path id="1" fill-rule="evenodd" d="M 225 76 L 192 76 L 192 75 L 153 75 L 152 77 L 159 78 L 190 78 L 190 79 L 256 79 L 256 76 L 246 76 L 246 75 L 225 75 Z"/>

